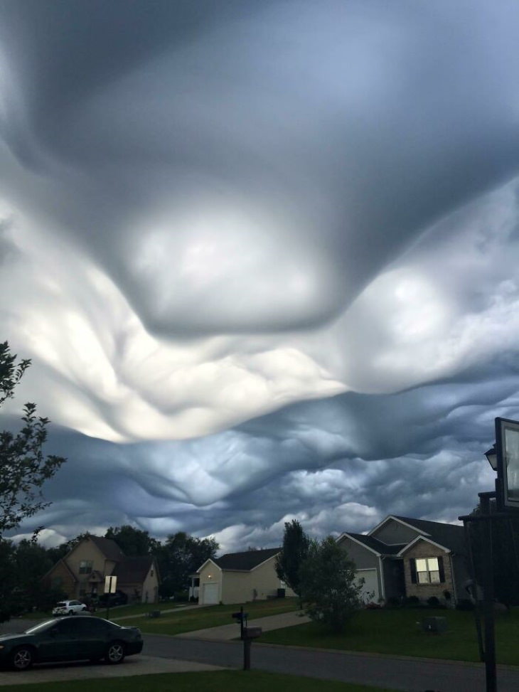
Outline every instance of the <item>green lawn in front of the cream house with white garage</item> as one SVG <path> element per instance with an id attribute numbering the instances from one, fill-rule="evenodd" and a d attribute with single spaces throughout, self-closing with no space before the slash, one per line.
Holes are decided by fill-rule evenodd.
<path id="1" fill-rule="evenodd" d="M 276 598 L 267 601 L 245 603 L 243 605 L 245 612 L 249 614 L 249 619 L 298 610 L 298 607 L 299 602 L 296 598 Z M 160 610 L 160 605 L 154 608 L 154 610 Z M 165 613 L 157 619 L 139 617 L 129 620 L 124 619 L 120 623 L 134 625 L 143 632 L 149 632 L 150 634 L 180 634 L 181 632 L 193 632 L 196 629 L 205 629 L 206 627 L 218 627 L 220 624 L 232 624 L 236 620 L 232 619 L 231 615 L 238 610 L 240 610 L 240 605 L 210 605 L 205 608 Z M 118 622 L 115 613 L 114 617 L 110 616 L 110 619 Z M 236 636 L 239 636 L 238 627 L 236 627 Z"/>

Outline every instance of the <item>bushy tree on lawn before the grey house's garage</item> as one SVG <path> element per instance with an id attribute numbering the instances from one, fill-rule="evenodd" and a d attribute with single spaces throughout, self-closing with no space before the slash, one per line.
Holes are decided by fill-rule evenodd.
<path id="1" fill-rule="evenodd" d="M 301 600 L 306 614 L 343 632 L 346 623 L 359 610 L 363 582 L 356 582 L 355 563 L 340 548 L 333 536 L 311 541 L 300 570 Z"/>

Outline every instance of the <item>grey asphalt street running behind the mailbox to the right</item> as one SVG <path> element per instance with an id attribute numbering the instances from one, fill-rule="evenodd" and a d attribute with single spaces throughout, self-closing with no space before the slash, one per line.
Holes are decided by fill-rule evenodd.
<path id="1" fill-rule="evenodd" d="M 241 642 L 213 642 L 146 634 L 146 654 L 205 664 L 242 667 Z M 262 671 L 373 685 L 407 692 L 485 692 L 482 664 L 408 659 L 376 654 L 252 644 L 251 667 Z M 519 690 L 519 669 L 498 667 L 499 692 Z"/>

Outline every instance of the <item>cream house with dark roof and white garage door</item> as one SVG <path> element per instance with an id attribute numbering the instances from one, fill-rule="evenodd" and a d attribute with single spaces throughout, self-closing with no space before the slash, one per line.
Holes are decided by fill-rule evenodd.
<path id="1" fill-rule="evenodd" d="M 276 555 L 281 548 L 247 550 L 209 558 L 193 575 L 199 580 L 198 603 L 245 603 L 294 592 L 276 574 Z"/>

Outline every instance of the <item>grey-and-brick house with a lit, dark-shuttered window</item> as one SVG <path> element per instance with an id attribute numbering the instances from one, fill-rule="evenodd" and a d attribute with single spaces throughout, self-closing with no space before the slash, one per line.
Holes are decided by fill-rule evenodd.
<path id="1" fill-rule="evenodd" d="M 444 602 L 450 596 L 454 604 L 468 597 L 462 526 L 390 515 L 367 534 L 342 533 L 337 542 L 365 580 L 366 602 L 410 596 Z"/>

